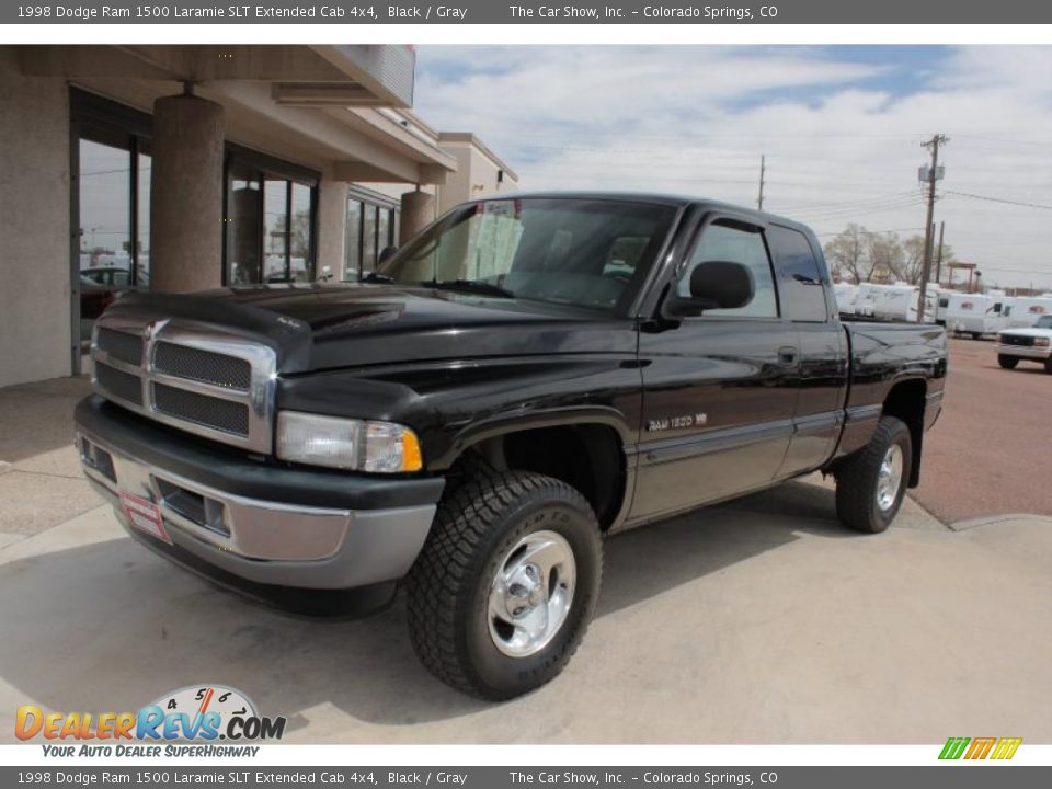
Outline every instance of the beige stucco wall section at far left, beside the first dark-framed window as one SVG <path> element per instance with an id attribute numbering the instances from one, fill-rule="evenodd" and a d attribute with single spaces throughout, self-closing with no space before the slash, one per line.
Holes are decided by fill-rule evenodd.
<path id="1" fill-rule="evenodd" d="M 0 47 L 0 386 L 70 373 L 69 99 Z"/>

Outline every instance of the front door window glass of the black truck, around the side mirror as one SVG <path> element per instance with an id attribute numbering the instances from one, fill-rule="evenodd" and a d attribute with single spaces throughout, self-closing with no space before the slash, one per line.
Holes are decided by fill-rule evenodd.
<path id="1" fill-rule="evenodd" d="M 706 317 L 777 318 L 775 279 L 767 256 L 767 244 L 758 228 L 730 220 L 717 220 L 701 231 L 701 238 L 676 286 L 681 296 L 690 296 L 690 274 L 699 263 L 730 261 L 748 266 L 753 273 L 753 299 L 735 309 L 708 309 Z"/>

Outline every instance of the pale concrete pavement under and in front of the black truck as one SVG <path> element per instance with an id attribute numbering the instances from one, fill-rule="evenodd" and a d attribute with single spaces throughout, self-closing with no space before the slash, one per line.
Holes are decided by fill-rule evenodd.
<path id="1" fill-rule="evenodd" d="M 570 667 L 505 705 L 433 679 L 401 606 L 289 618 L 93 508 L 0 549 L 0 737 L 22 704 L 137 709 L 214 682 L 288 717 L 290 742 L 1052 741 L 1052 524 L 954 531 L 911 504 L 861 536 L 832 521 L 831 496 L 796 482 L 609 539 Z"/>

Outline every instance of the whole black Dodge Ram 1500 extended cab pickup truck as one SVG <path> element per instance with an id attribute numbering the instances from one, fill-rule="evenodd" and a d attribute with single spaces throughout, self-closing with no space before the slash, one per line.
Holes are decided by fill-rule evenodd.
<path id="1" fill-rule="evenodd" d="M 361 284 L 130 294 L 92 356 L 77 442 L 129 534 L 308 613 L 402 584 L 491 699 L 570 660 L 608 534 L 815 470 L 884 530 L 947 369 L 938 327 L 841 322 L 808 228 L 613 194 L 462 205 Z"/>

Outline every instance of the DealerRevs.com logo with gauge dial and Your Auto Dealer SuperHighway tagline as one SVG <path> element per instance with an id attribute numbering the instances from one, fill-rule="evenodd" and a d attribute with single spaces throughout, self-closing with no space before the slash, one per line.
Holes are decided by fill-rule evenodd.
<path id="1" fill-rule="evenodd" d="M 240 744 L 281 740 L 285 723 L 285 718 L 260 716 L 240 690 L 192 685 L 164 694 L 137 712 L 44 712 L 36 705 L 23 705 L 15 714 L 14 735 L 22 741 L 80 742 L 45 744 L 48 756 L 160 756 L 161 744 L 164 756 L 254 756 L 259 747 Z M 218 746 L 216 741 L 230 744 Z M 204 745 L 169 744 L 174 742 Z"/>

